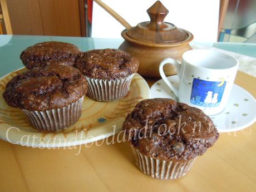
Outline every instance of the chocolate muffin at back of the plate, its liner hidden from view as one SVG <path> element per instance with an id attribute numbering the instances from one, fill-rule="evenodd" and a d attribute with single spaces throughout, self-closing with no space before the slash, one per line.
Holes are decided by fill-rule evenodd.
<path id="1" fill-rule="evenodd" d="M 56 62 L 65 62 L 73 66 L 80 53 L 80 48 L 71 43 L 49 41 L 26 48 L 20 58 L 29 69 Z"/>

